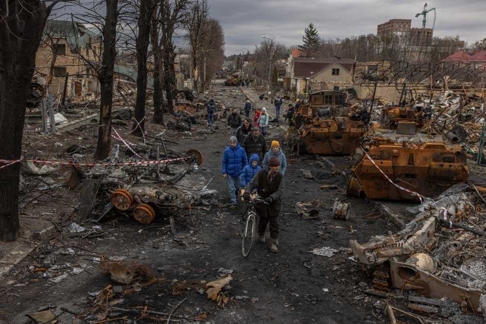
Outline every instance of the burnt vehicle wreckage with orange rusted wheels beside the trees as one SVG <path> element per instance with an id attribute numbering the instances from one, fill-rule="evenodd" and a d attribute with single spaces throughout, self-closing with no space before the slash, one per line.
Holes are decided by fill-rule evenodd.
<path id="1" fill-rule="evenodd" d="M 157 163 L 147 160 L 113 162 L 107 167 L 100 165 L 87 171 L 72 165 L 67 183 L 74 188 L 82 181 L 80 219 L 91 216 L 94 222 L 100 222 L 116 214 L 133 216 L 142 224 L 150 224 L 156 217 L 169 216 L 175 234 L 174 215 L 183 208 L 209 205 L 210 195 L 214 193 L 206 189 L 212 172 L 199 167 L 203 162 L 202 154 L 190 150 L 183 155 L 161 160 L 157 152 L 154 160 Z M 175 163 L 181 161 L 186 163 Z"/>

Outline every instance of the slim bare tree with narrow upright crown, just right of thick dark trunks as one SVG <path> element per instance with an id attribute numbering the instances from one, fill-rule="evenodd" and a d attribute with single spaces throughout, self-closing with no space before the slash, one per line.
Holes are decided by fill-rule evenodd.
<path id="1" fill-rule="evenodd" d="M 189 45 L 191 47 L 192 68 L 194 69 L 194 76 L 200 75 L 196 72 L 199 66 L 199 48 L 203 40 L 204 24 L 208 19 L 209 7 L 207 0 L 195 0 L 190 3 L 188 7 L 188 15 L 184 26 L 188 31 L 186 35 Z M 194 77 L 194 90 L 197 92 L 198 83 L 197 78 Z"/>

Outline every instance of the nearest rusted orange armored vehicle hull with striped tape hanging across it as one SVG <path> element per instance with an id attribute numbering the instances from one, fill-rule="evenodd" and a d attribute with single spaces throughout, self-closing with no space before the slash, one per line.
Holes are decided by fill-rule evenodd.
<path id="1" fill-rule="evenodd" d="M 466 182 L 469 167 L 462 148 L 449 145 L 441 135 L 417 133 L 416 126 L 413 121 L 399 121 L 396 130 L 372 128 L 351 156 L 354 175 L 348 181 L 347 194 L 416 200 L 417 195 L 411 192 L 434 197 L 454 184 Z M 397 188 L 382 172 L 411 192 Z"/>

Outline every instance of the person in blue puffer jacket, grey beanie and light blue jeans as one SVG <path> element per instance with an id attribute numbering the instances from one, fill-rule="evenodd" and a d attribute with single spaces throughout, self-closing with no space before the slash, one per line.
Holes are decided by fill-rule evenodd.
<path id="1" fill-rule="evenodd" d="M 228 182 L 229 197 L 232 207 L 236 205 L 236 197 L 242 187 L 241 174 L 243 168 L 248 165 L 248 158 L 246 152 L 238 144 L 238 138 L 231 136 L 229 138 L 229 146 L 223 152 L 223 161 L 221 167 L 221 173 L 223 178 Z"/>

